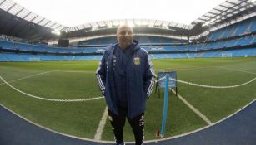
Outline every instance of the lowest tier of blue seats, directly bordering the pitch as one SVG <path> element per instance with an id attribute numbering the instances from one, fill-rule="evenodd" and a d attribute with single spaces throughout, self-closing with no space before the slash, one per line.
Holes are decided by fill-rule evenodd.
<path id="1" fill-rule="evenodd" d="M 198 57 L 228 57 L 223 54 L 229 54 L 232 57 L 256 56 L 256 48 L 238 49 L 230 51 L 203 51 L 189 53 L 173 54 L 150 54 L 151 59 L 167 58 L 198 58 Z M 0 61 L 56 61 L 56 60 L 100 60 L 102 56 L 55 56 L 55 55 L 28 55 L 17 53 L 0 53 Z"/>

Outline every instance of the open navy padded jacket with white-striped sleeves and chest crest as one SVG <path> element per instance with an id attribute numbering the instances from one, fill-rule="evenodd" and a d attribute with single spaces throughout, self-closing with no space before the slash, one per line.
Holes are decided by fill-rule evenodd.
<path id="1" fill-rule="evenodd" d="M 104 51 L 102 60 L 96 71 L 99 88 L 105 96 L 108 109 L 118 115 L 118 98 L 115 90 L 114 67 L 116 65 L 115 51 L 118 44 L 110 45 Z M 133 43 L 128 57 L 127 73 L 127 108 L 128 118 L 142 114 L 146 109 L 146 100 L 153 90 L 155 74 L 148 52 L 141 49 L 138 43 Z"/>

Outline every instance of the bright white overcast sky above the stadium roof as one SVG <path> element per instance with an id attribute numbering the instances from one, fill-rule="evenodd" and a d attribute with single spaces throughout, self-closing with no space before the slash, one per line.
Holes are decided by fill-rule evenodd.
<path id="1" fill-rule="evenodd" d="M 13 0 L 53 22 L 75 27 L 114 19 L 154 19 L 191 24 L 224 0 Z"/>

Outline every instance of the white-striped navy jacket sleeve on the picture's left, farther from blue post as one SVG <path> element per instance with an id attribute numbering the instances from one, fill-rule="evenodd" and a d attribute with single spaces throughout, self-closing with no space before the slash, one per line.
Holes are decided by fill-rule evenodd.
<path id="1" fill-rule="evenodd" d="M 107 65 L 106 65 L 106 57 L 107 51 L 104 52 L 102 59 L 99 61 L 98 69 L 96 70 L 96 77 L 99 89 L 102 91 L 102 94 L 105 94 L 105 86 L 106 86 L 106 73 L 107 73 Z"/>

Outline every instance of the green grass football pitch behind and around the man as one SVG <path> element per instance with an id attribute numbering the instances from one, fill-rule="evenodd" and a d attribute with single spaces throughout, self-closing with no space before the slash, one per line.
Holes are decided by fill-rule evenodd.
<path id="1" fill-rule="evenodd" d="M 256 57 L 153 60 L 153 66 L 156 72 L 176 70 L 179 80 L 203 85 L 239 85 L 256 77 Z M 49 99 L 85 99 L 101 96 L 95 77 L 97 67 L 98 60 L 1 62 L 0 75 L 27 94 Z M 18 80 L 24 77 L 27 78 Z M 233 89 L 207 89 L 178 83 L 178 94 L 215 123 L 256 98 L 256 80 Z M 104 99 L 70 103 L 33 99 L 10 88 L 2 80 L 0 104 L 43 127 L 82 138 L 93 138 L 106 107 Z M 162 115 L 163 91 L 158 98 L 153 90 L 145 115 L 146 140 L 157 139 L 155 133 L 161 129 Z M 170 94 L 166 138 L 207 125 L 178 97 Z M 128 122 L 124 130 L 125 141 L 133 141 Z M 102 140 L 113 141 L 108 121 Z"/>

